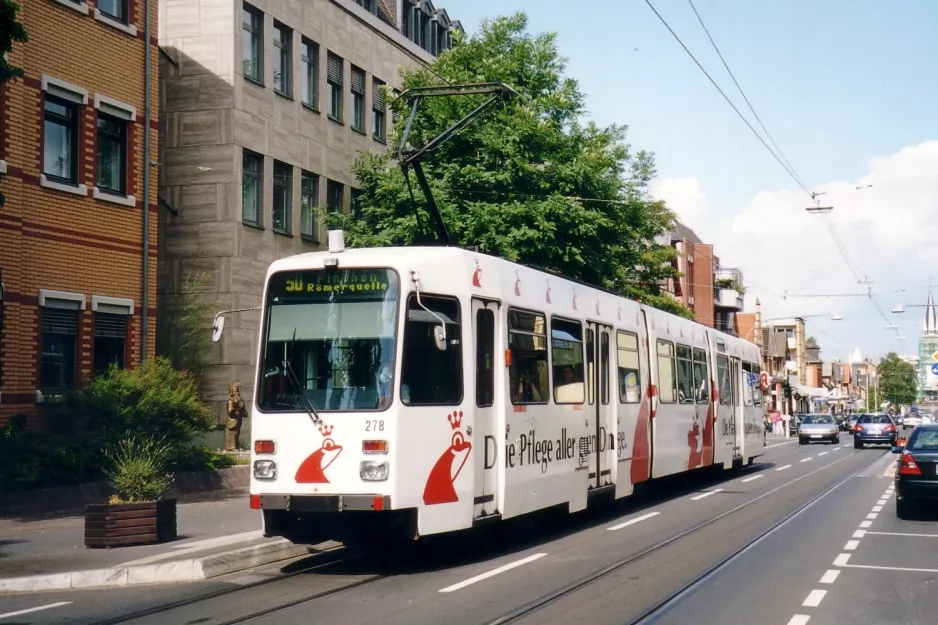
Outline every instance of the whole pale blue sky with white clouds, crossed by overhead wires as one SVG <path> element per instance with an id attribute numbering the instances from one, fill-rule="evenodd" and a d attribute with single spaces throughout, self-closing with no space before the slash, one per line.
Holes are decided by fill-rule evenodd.
<path id="1" fill-rule="evenodd" d="M 737 107 L 750 117 L 686 0 L 652 0 Z M 739 267 L 763 316 L 837 312 L 809 320 L 829 357 L 916 351 L 922 309 L 938 284 L 938 2 L 695 0 L 762 121 L 812 190 L 869 298 L 788 298 L 865 290 L 808 198 L 746 128 L 644 0 L 447 0 L 473 32 L 484 17 L 524 11 L 532 32 L 558 33 L 568 74 L 590 116 L 628 124 L 654 151 L 656 194 Z M 585 6 L 587 10 L 577 7 Z M 857 190 L 859 184 L 872 188 Z M 800 194 L 800 195 L 799 195 Z M 900 289 L 905 292 L 896 293 Z M 938 289 L 936 289 L 938 290 Z M 913 327 L 914 326 L 914 327 Z M 896 340 L 896 335 L 905 341 Z"/>

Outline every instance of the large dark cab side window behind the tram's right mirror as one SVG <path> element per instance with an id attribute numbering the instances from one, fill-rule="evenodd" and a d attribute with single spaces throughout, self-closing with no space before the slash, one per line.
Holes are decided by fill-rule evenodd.
<path id="1" fill-rule="evenodd" d="M 421 306 L 420 304 L 423 304 Z M 446 349 L 434 332 L 446 324 Z M 411 296 L 404 326 L 401 400 L 408 405 L 455 405 L 462 401 L 462 326 L 459 302 L 450 297 Z"/>

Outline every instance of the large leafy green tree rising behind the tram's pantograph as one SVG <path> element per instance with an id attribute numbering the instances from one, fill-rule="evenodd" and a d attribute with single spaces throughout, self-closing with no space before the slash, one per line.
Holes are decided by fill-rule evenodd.
<path id="1" fill-rule="evenodd" d="M 677 276 L 675 251 L 656 242 L 674 215 L 649 194 L 654 157 L 633 152 L 626 128 L 581 121 L 585 98 L 564 76 L 554 34 L 527 33 L 517 13 L 486 21 L 481 32 L 429 68 L 402 70 L 405 89 L 443 83 L 503 82 L 520 97 L 496 107 L 439 147 L 424 163 L 443 219 L 460 245 L 542 267 L 690 317 L 660 284 Z M 488 96 L 433 98 L 420 104 L 410 144 L 425 145 Z M 401 119 L 408 111 L 393 103 Z M 412 201 L 389 153 L 363 153 L 353 171 L 361 214 L 329 214 L 353 247 L 424 240 L 422 194 Z M 416 186 L 416 181 L 413 181 Z M 415 205 L 416 204 L 416 205 Z"/>

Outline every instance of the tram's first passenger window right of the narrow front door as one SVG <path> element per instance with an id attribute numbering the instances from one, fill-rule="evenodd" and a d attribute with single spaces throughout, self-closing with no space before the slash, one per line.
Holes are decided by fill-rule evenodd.
<path id="1" fill-rule="evenodd" d="M 547 318 L 541 313 L 509 310 L 508 348 L 511 403 L 546 404 L 550 393 Z"/>

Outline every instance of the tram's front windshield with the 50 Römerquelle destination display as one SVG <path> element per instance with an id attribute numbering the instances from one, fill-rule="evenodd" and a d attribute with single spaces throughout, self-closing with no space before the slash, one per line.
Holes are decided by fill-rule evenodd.
<path id="1" fill-rule="evenodd" d="M 271 276 L 265 298 L 258 407 L 304 412 L 382 410 L 394 388 L 399 300 L 389 269 Z"/>

